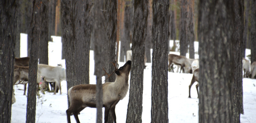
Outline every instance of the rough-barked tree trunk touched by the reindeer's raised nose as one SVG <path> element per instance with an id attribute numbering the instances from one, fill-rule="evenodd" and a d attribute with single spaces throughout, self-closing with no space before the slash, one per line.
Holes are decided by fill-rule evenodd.
<path id="1" fill-rule="evenodd" d="M 132 65 L 126 122 L 142 122 L 142 95 L 148 0 L 134 1 Z M 136 100 L 136 101 L 134 101 Z"/>

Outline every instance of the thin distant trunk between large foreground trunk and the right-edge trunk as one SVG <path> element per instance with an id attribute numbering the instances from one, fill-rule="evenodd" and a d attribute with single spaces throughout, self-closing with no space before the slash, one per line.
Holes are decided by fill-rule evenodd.
<path id="1" fill-rule="evenodd" d="M 245 0 L 244 2 L 244 8 L 245 8 L 245 12 L 244 12 L 244 41 L 243 41 L 243 49 L 242 49 L 242 55 L 243 58 L 245 58 L 245 49 L 246 49 L 246 43 L 248 43 L 247 40 L 247 32 L 248 32 L 248 20 L 249 20 L 249 7 L 250 7 L 250 0 Z"/>

